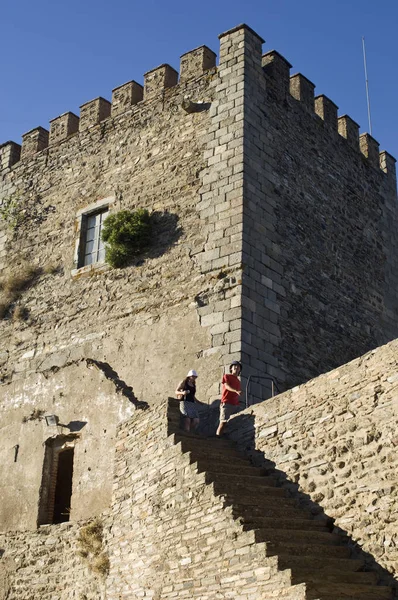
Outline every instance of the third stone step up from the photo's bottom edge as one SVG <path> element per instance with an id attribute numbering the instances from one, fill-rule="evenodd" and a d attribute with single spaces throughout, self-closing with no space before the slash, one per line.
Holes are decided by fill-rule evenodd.
<path id="1" fill-rule="evenodd" d="M 318 572 L 322 576 L 323 572 L 330 569 L 334 571 L 350 571 L 357 572 L 363 568 L 365 562 L 359 558 L 332 558 L 327 556 L 307 556 L 289 554 L 289 552 L 281 549 L 278 554 L 278 566 L 280 569 L 292 569 L 293 572 L 299 570 L 307 570 Z"/>

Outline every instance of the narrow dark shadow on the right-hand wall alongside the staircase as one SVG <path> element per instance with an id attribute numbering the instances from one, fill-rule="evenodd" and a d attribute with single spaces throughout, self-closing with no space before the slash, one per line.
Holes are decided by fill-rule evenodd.
<path id="1" fill-rule="evenodd" d="M 236 442 L 238 450 L 245 454 L 256 467 L 266 469 L 267 475 L 273 475 L 278 480 L 278 485 L 287 490 L 289 495 L 297 501 L 299 508 L 310 510 L 315 518 L 327 518 L 331 523 L 334 519 L 325 513 L 322 506 L 314 502 L 308 494 L 300 491 L 299 486 L 290 480 L 286 473 L 276 467 L 276 464 L 268 460 L 264 452 L 256 449 L 255 446 L 255 417 L 251 414 L 236 415 L 232 417 L 227 436 Z M 376 572 L 380 578 L 380 583 L 391 586 L 394 590 L 394 597 L 398 598 L 398 582 L 395 577 L 386 569 L 381 567 L 375 557 L 362 550 L 357 542 L 343 529 L 333 526 L 333 533 L 340 535 L 344 543 L 350 548 L 352 558 L 364 561 L 364 571 Z"/>

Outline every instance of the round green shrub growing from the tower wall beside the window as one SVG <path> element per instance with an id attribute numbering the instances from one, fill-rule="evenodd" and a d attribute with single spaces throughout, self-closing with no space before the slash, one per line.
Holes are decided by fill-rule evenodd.
<path id="1" fill-rule="evenodd" d="M 140 254 L 151 239 L 151 217 L 145 209 L 121 210 L 104 221 L 102 239 L 105 260 L 112 267 L 124 267 L 129 259 Z"/>

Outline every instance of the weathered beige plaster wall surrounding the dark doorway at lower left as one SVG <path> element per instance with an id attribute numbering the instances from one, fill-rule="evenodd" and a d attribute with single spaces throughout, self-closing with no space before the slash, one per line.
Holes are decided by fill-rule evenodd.
<path id="1" fill-rule="evenodd" d="M 108 507 L 116 425 L 133 414 L 134 404 L 85 361 L 31 374 L 2 391 L 1 529 L 37 526 L 45 442 L 60 434 L 77 436 L 70 518 L 88 519 Z M 35 410 L 57 415 L 63 426 L 47 426 L 43 416 L 32 417 Z"/>

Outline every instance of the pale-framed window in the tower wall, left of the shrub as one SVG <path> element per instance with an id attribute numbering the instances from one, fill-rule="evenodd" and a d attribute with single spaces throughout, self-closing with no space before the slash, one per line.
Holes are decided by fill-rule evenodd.
<path id="1" fill-rule="evenodd" d="M 114 197 L 103 198 L 76 214 L 76 243 L 72 275 L 80 275 L 105 265 L 105 246 L 101 231 Z"/>

